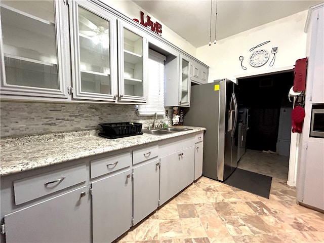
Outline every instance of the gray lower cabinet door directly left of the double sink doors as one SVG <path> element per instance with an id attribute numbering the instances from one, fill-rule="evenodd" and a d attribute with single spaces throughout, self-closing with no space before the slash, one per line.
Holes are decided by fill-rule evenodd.
<path id="1" fill-rule="evenodd" d="M 159 159 L 134 167 L 133 173 L 135 225 L 158 207 Z"/>

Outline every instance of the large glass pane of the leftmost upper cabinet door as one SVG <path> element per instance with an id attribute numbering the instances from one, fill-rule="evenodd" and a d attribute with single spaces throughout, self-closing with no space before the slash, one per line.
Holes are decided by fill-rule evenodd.
<path id="1" fill-rule="evenodd" d="M 6 81 L 59 89 L 54 1 L 1 1 Z"/>

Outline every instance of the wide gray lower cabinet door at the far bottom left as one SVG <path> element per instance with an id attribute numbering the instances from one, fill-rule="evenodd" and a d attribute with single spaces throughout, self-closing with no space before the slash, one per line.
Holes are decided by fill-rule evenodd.
<path id="1" fill-rule="evenodd" d="M 6 242 L 90 242 L 87 186 L 5 215 Z"/>

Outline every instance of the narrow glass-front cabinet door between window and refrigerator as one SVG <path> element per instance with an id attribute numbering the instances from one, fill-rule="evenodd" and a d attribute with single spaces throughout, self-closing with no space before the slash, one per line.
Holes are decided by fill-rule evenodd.
<path id="1" fill-rule="evenodd" d="M 190 105 L 190 59 L 180 55 L 179 100 L 181 106 Z"/>

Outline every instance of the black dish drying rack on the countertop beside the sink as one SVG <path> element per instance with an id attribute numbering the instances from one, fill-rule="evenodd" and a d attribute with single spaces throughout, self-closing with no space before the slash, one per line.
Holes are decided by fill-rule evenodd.
<path id="1" fill-rule="evenodd" d="M 101 123 L 99 125 L 103 129 L 103 133 L 99 133 L 98 135 L 108 139 L 125 138 L 143 134 L 143 124 L 141 123 Z"/>

